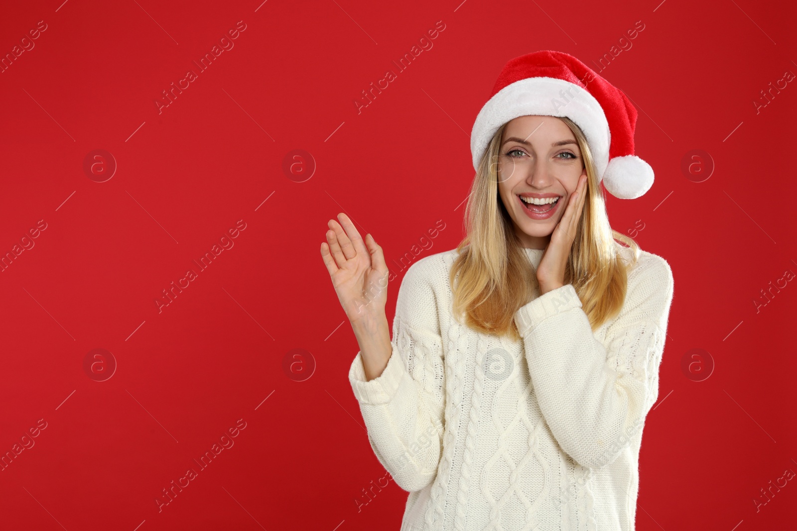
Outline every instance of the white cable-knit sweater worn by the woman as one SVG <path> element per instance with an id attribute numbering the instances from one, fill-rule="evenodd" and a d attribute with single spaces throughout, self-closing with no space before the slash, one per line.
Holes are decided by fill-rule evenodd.
<path id="1" fill-rule="evenodd" d="M 543 250 L 526 252 L 536 270 Z M 456 253 L 406 271 L 383 373 L 366 381 L 360 353 L 348 373 L 376 457 L 410 492 L 401 531 L 633 531 L 669 264 L 642 251 L 620 314 L 594 333 L 572 284 L 536 292 L 512 341 L 453 319 Z"/>

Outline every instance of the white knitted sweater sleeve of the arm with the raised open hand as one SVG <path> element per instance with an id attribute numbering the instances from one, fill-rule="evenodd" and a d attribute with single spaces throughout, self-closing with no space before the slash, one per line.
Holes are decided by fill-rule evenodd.
<path id="1" fill-rule="evenodd" d="M 429 257 L 431 258 L 431 257 Z M 348 377 L 365 421 L 368 442 L 403 490 L 434 481 L 442 454 L 445 374 L 436 299 L 421 260 L 398 289 L 391 357 L 379 377 L 366 381 L 362 353 Z"/>

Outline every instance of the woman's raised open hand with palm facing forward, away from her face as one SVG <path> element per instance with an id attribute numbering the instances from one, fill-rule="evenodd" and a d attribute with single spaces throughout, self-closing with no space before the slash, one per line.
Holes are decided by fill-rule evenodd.
<path id="1" fill-rule="evenodd" d="M 385 318 L 388 282 L 382 248 L 371 234 L 365 236 L 363 244 L 346 214 L 340 213 L 338 218 L 340 224 L 329 221 L 327 243 L 321 244 L 332 286 L 352 325 L 379 322 Z"/>

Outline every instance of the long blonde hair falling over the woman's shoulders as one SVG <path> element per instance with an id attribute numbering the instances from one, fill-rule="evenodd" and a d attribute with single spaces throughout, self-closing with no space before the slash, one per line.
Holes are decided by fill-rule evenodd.
<path id="1" fill-rule="evenodd" d="M 609 225 L 606 197 L 597 181 L 595 161 L 583 131 L 571 119 L 557 118 L 573 131 L 587 168 L 587 197 L 565 267 L 564 283 L 575 287 L 595 331 L 622 308 L 628 280 L 626 267 L 633 265 L 626 264 L 618 254 L 614 240 L 632 248 L 633 263 L 638 259 L 639 246 Z M 457 245 L 459 255 L 449 280 L 455 318 L 465 316 L 465 324 L 485 334 L 509 334 L 518 340 L 520 334 L 513 316 L 532 300 L 538 283 L 498 193 L 496 162 L 506 125 L 493 135 L 473 178 L 465 206 L 466 236 Z"/>

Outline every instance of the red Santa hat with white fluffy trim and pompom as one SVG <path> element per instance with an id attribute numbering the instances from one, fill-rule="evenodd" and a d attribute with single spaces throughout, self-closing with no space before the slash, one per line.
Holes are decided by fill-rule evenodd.
<path id="1" fill-rule="evenodd" d="M 614 197 L 635 199 L 653 185 L 653 168 L 634 155 L 637 110 L 586 64 L 567 53 L 541 50 L 505 64 L 470 134 L 473 168 L 495 132 L 524 115 L 567 116 L 590 145 L 598 181 Z"/>

